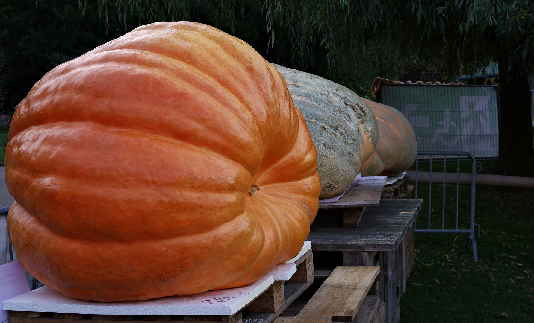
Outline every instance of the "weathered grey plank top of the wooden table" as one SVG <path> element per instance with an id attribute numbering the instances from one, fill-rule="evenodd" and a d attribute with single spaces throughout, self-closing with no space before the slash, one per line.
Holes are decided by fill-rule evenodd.
<path id="1" fill-rule="evenodd" d="M 395 251 L 421 211 L 422 199 L 384 199 L 367 208 L 357 228 L 341 228 L 343 215 L 319 213 L 311 224 L 314 251 Z"/>

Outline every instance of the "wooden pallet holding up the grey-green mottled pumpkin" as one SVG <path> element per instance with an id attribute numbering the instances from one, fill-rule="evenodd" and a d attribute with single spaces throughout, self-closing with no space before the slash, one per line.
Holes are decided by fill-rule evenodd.
<path id="1" fill-rule="evenodd" d="M 343 228 L 355 228 L 362 220 L 366 207 L 380 205 L 382 190 L 387 177 L 362 177 L 355 186 L 345 192 L 337 201 L 321 203 L 319 200 L 319 213 L 317 216 L 328 216 L 331 212 L 343 213 Z"/>

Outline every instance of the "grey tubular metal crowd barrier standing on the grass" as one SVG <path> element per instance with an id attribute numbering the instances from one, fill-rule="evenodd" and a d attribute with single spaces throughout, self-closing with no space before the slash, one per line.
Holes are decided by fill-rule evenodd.
<path id="1" fill-rule="evenodd" d="M 418 158 L 415 159 L 415 198 L 419 197 L 419 165 L 422 162 L 420 159 L 429 159 L 430 167 L 429 167 L 429 188 L 428 188 L 428 228 L 427 229 L 418 229 L 417 228 L 417 219 L 415 220 L 415 227 L 414 232 L 418 233 L 464 233 L 469 235 L 466 241 L 465 247 L 467 248 L 469 245 L 469 241 L 473 244 L 473 258 L 477 262 L 478 261 L 478 255 L 477 255 L 477 249 L 476 249 L 476 240 L 475 240 L 475 225 L 478 225 L 478 237 L 480 238 L 480 224 L 475 223 L 475 186 L 476 186 L 476 164 L 477 161 L 475 157 L 470 154 L 469 152 L 465 151 L 451 151 L 451 152 L 443 152 L 443 151 L 418 151 L 417 152 Z M 445 173 L 447 169 L 447 156 L 449 156 L 449 163 L 451 161 L 454 163 L 456 161 L 457 164 L 457 180 L 456 180 L 456 226 L 454 229 L 445 229 L 445 201 L 446 201 L 446 176 Z M 470 197 L 470 216 L 469 216 L 469 229 L 458 229 L 458 220 L 459 220 L 459 195 L 460 195 L 460 187 L 459 187 L 459 180 L 460 180 L 460 161 L 465 161 L 466 159 L 461 159 L 460 157 L 468 157 L 467 160 L 472 161 L 472 167 L 471 167 L 471 174 L 472 174 L 472 180 L 471 180 L 471 197 Z M 426 161 L 426 160 L 425 160 Z M 443 190 L 442 190 L 442 219 L 441 219 L 441 229 L 433 229 L 431 228 L 431 217 L 432 217 L 432 177 L 433 174 L 436 177 L 436 173 L 441 172 L 434 172 L 433 173 L 433 163 L 442 163 L 443 162 L 443 181 L 439 181 L 440 184 L 443 184 Z M 454 183 L 452 183 L 454 184 Z M 436 210 L 437 211 L 437 210 Z M 421 212 L 422 213 L 422 212 Z M 420 213 L 420 215 L 421 215 Z"/>

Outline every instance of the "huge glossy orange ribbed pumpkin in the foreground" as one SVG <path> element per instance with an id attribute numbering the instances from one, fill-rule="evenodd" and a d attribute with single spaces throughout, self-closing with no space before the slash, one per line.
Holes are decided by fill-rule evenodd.
<path id="1" fill-rule="evenodd" d="M 199 23 L 141 26 L 54 68 L 10 139 L 18 259 L 82 300 L 250 284 L 300 251 L 318 208 L 316 150 L 284 78 Z"/>

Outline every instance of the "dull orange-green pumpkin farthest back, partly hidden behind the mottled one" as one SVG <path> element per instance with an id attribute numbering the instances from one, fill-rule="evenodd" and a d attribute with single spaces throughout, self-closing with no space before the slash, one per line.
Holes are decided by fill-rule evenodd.
<path id="1" fill-rule="evenodd" d="M 362 170 L 362 175 L 391 176 L 405 172 L 417 157 L 417 141 L 412 126 L 397 109 L 362 100 L 374 112 L 380 132 L 373 160 Z"/>

